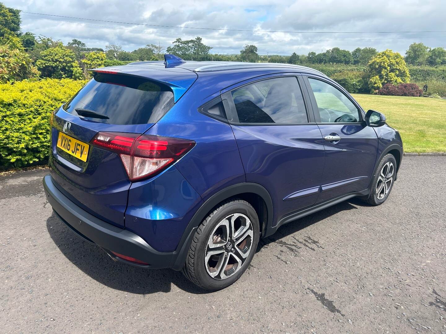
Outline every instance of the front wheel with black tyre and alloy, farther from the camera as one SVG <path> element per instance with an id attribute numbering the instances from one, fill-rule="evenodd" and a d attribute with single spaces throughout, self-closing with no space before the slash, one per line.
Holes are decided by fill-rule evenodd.
<path id="1" fill-rule="evenodd" d="M 371 205 L 380 205 L 384 203 L 392 190 L 395 174 L 395 157 L 391 154 L 384 155 L 373 174 L 370 195 L 368 199 L 364 201 Z"/>

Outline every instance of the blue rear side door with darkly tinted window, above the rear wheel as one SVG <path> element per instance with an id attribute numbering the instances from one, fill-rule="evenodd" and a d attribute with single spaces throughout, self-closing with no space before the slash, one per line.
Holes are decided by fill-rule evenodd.
<path id="1" fill-rule="evenodd" d="M 257 80 L 222 95 L 246 181 L 263 185 L 273 221 L 314 204 L 324 162 L 321 132 L 307 113 L 298 76 Z M 228 118 L 230 118 L 228 116 Z"/>

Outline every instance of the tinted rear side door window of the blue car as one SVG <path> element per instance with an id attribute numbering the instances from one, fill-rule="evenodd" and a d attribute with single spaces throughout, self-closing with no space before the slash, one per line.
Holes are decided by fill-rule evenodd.
<path id="1" fill-rule="evenodd" d="M 296 77 L 258 81 L 231 92 L 240 123 L 306 123 Z"/>

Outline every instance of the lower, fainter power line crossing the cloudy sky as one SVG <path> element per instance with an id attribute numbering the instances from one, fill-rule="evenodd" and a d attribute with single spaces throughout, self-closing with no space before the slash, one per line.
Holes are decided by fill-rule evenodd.
<path id="1" fill-rule="evenodd" d="M 84 22 L 75 22 L 75 21 L 68 21 L 68 20 L 58 20 L 58 19 L 51 19 L 49 17 L 42 17 L 42 16 L 34 16 L 34 15 L 28 15 L 28 14 L 22 14 L 24 16 L 31 16 L 31 17 L 37 17 L 44 20 L 53 20 L 53 21 L 60 21 L 60 22 L 69 22 L 69 23 L 76 23 L 76 24 L 85 24 L 93 27 L 100 27 L 100 28 L 107 28 L 107 29 L 120 29 L 120 30 L 128 30 L 128 31 L 134 31 L 134 32 L 141 32 L 141 33 L 153 33 L 153 34 L 163 34 L 163 35 L 174 35 L 174 36 L 192 36 L 196 37 L 197 35 L 188 35 L 188 34 L 178 34 L 178 33 L 159 33 L 159 32 L 153 32 L 149 30 L 135 30 L 135 29 L 126 29 L 126 28 L 120 28 L 120 27 L 109 27 L 106 25 L 99 25 L 99 24 L 90 24 L 90 23 L 84 23 Z M 421 38 L 444 38 L 446 36 L 422 36 L 422 37 L 392 37 L 392 38 L 355 38 L 355 39 L 328 39 L 328 40 L 307 40 L 307 39 L 273 39 L 273 38 L 249 38 L 249 37 L 221 37 L 221 36 L 201 36 L 205 38 L 217 38 L 217 39 L 230 39 L 230 40 L 245 40 L 245 41 L 300 41 L 300 42 L 326 42 L 326 41 L 378 41 L 378 40 L 400 40 L 400 39 L 421 39 Z"/>

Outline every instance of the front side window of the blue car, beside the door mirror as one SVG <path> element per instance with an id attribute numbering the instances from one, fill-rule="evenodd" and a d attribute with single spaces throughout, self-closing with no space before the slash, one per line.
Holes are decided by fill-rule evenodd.
<path id="1" fill-rule="evenodd" d="M 359 122 L 359 110 L 336 87 L 330 84 L 308 78 L 314 98 L 318 104 L 318 112 L 323 123 L 355 123 Z"/>

